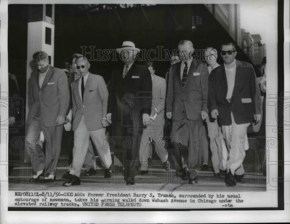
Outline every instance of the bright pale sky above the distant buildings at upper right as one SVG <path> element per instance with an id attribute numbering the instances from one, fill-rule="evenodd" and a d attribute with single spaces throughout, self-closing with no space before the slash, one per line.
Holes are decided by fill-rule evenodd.
<path id="1" fill-rule="evenodd" d="M 273 8 L 264 1 L 240 3 L 241 29 L 245 29 L 250 34 L 260 34 L 261 43 L 266 43 L 267 32 L 269 32 L 267 21 L 273 16 L 271 11 L 273 12 Z"/>

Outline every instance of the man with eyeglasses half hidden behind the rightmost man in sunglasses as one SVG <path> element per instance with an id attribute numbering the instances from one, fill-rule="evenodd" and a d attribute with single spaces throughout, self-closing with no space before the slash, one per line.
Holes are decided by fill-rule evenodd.
<path id="1" fill-rule="evenodd" d="M 205 51 L 206 63 L 208 64 L 209 76 L 211 76 L 211 72 L 219 67 L 220 65 L 217 63 L 218 52 L 213 47 L 207 47 Z M 212 118 L 209 114 L 209 117 L 206 118 L 207 130 L 209 133 L 210 139 L 210 148 L 211 148 L 211 161 L 213 163 L 213 169 L 215 174 L 214 177 L 223 178 L 224 177 L 224 164 L 223 157 L 227 158 L 226 147 L 222 143 L 222 131 L 221 127 L 218 124 L 217 118 Z M 223 150 L 224 149 L 224 150 Z M 204 148 L 208 155 L 208 149 Z M 223 156 L 224 155 L 224 156 Z M 204 163 L 207 162 L 205 158 L 208 156 L 204 156 Z M 226 161 L 226 159 L 225 159 Z"/>

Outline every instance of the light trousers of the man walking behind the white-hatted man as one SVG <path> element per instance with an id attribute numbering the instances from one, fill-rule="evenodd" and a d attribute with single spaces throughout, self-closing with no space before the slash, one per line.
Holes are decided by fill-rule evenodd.
<path id="1" fill-rule="evenodd" d="M 155 151 L 159 156 L 162 162 L 165 162 L 168 154 L 164 148 L 163 144 L 163 127 L 156 126 L 147 126 L 142 133 L 141 142 L 140 142 L 140 170 L 148 170 L 148 158 L 151 157 L 152 151 L 150 148 L 150 140 L 151 138 L 155 143 Z"/>

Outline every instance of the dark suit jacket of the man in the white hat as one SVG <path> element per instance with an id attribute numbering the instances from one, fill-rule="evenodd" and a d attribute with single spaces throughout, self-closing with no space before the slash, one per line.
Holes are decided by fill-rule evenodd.
<path id="1" fill-rule="evenodd" d="M 124 65 L 112 71 L 108 113 L 112 120 L 131 120 L 142 124 L 142 114 L 151 114 L 152 80 L 149 70 L 135 62 L 123 78 Z M 117 96 L 124 105 L 118 115 Z"/>

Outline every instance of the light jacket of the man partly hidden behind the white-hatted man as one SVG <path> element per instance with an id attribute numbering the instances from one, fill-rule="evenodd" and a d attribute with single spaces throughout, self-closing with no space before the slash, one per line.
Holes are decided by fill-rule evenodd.
<path id="1" fill-rule="evenodd" d="M 151 114 L 159 113 L 152 122 L 154 126 L 165 124 L 164 109 L 166 98 L 166 80 L 160 76 L 153 76 L 152 80 L 152 107 Z M 156 112 L 156 110 L 157 112 Z"/>

